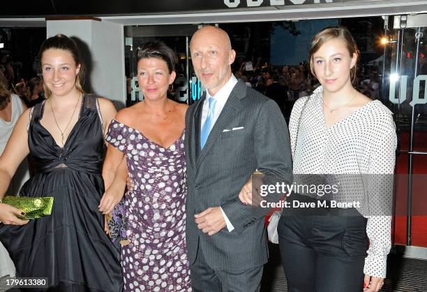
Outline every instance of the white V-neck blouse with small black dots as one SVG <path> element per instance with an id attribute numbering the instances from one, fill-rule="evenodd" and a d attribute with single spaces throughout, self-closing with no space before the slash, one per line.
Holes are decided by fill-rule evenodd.
<path id="1" fill-rule="evenodd" d="M 289 130 L 294 174 L 394 173 L 396 128 L 391 111 L 380 101 L 370 101 L 328 128 L 324 122 L 323 88 L 318 87 L 311 96 L 295 103 Z M 375 196 L 373 193 L 369 196 Z M 375 193 L 391 198 L 392 187 L 377 188 Z M 391 213 L 359 212 L 368 218 L 366 233 L 370 240 L 364 273 L 385 278 L 391 248 Z"/>

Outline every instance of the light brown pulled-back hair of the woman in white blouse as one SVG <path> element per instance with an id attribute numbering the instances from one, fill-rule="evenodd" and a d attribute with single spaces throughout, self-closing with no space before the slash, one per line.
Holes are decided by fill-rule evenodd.
<path id="1" fill-rule="evenodd" d="M 345 46 L 350 54 L 350 57 L 353 57 L 356 54 L 356 63 L 350 69 L 350 78 L 354 80 L 356 78 L 356 70 L 357 70 L 357 61 L 359 60 L 360 53 L 357 48 L 357 44 L 354 41 L 354 38 L 350 31 L 346 27 L 327 27 L 322 29 L 322 31 L 318 32 L 315 36 L 313 36 L 313 40 L 311 41 L 310 50 L 308 51 L 308 61 L 310 63 L 310 72 L 315 76 L 314 64 L 313 64 L 313 54 L 317 52 L 324 43 L 330 41 L 334 38 L 340 38 L 344 41 Z"/>

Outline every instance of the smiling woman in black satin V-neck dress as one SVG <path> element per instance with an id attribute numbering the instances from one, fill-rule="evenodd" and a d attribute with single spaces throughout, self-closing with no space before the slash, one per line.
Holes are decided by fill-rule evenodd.
<path id="1" fill-rule="evenodd" d="M 98 212 L 103 132 L 116 110 L 82 89 L 82 62 L 67 36 L 47 38 L 40 60 L 47 100 L 22 114 L 0 156 L 0 198 L 31 153 L 36 175 L 20 194 L 53 196 L 52 215 L 21 220 L 16 216 L 21 210 L 0 203 L 0 241 L 17 276 L 47 277 L 48 291 L 120 292 L 119 250 L 104 233 Z"/>

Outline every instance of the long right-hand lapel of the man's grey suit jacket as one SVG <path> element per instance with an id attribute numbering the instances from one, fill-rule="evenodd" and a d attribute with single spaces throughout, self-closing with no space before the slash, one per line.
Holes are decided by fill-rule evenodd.
<path id="1" fill-rule="evenodd" d="M 196 158 L 197 168 L 199 168 L 200 163 L 202 163 L 203 159 L 207 156 L 207 154 L 209 154 L 212 146 L 215 144 L 216 140 L 218 140 L 220 134 L 223 133 L 223 130 L 227 127 L 228 124 L 230 124 L 230 122 L 232 122 L 234 117 L 236 117 L 236 113 L 239 112 L 241 108 L 243 108 L 240 99 L 246 96 L 246 89 L 247 87 L 243 82 L 237 82 L 237 84 L 234 86 L 230 96 L 228 96 L 223 110 L 213 125 L 211 133 L 209 133 L 206 144 L 200 151 L 199 156 Z M 202 108 L 200 108 L 200 110 L 202 110 Z M 198 122 L 200 123 L 200 121 Z M 197 139 L 200 139 L 200 137 L 197 137 Z"/>

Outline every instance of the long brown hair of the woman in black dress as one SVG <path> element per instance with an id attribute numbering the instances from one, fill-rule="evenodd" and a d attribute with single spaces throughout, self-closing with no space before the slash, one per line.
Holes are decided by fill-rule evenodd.
<path id="1" fill-rule="evenodd" d="M 40 60 L 40 67 L 41 67 L 43 52 L 49 49 L 65 50 L 71 53 L 75 61 L 75 66 L 80 65 L 80 71 L 75 77 L 75 87 L 79 92 L 84 94 L 84 90 L 82 87 L 82 85 L 84 84 L 84 64 L 82 62 L 82 58 L 80 57 L 79 50 L 77 48 L 75 41 L 73 41 L 73 39 L 68 38 L 68 36 L 65 36 L 63 34 L 57 34 L 56 36 L 51 36 L 50 38 L 47 38 L 42 43 L 40 47 L 40 52 L 38 53 L 38 59 Z M 47 88 L 45 83 L 43 83 L 43 88 L 45 89 L 46 98 L 49 98 L 52 95 L 52 92 Z"/>

